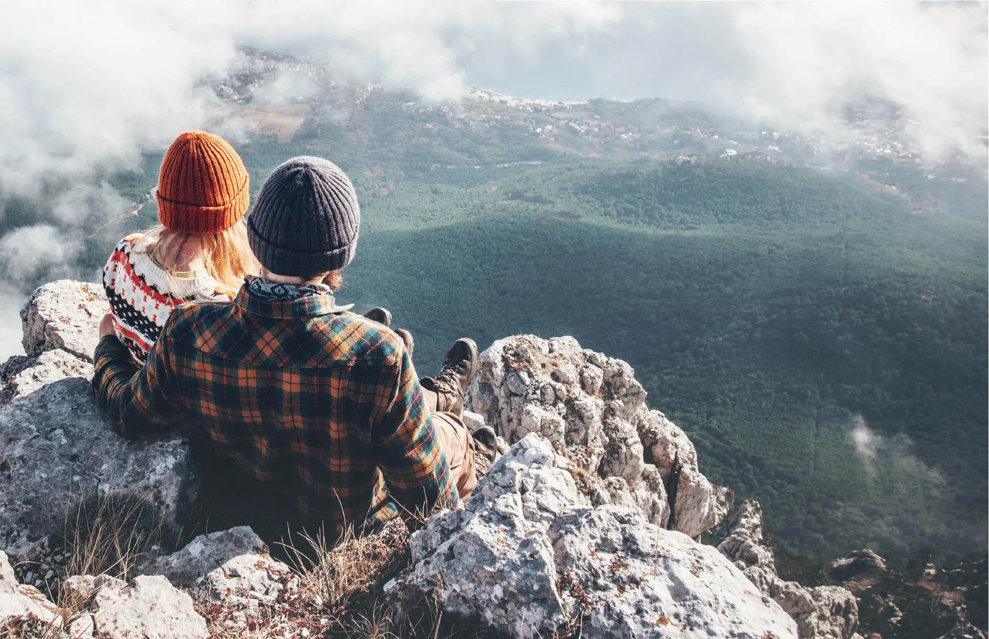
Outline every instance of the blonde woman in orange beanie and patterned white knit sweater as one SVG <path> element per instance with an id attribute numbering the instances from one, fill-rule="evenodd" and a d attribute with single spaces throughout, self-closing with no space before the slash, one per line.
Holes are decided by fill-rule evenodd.
<path id="1" fill-rule="evenodd" d="M 230 300 L 258 272 L 247 242 L 247 169 L 222 137 L 175 138 L 161 162 L 158 221 L 117 244 L 103 269 L 114 330 L 138 365 L 173 309 Z"/>

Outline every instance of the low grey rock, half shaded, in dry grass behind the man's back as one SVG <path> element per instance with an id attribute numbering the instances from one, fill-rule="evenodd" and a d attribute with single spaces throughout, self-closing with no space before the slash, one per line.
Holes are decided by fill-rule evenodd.
<path id="1" fill-rule="evenodd" d="M 268 547 L 249 526 L 200 535 L 137 572 L 162 575 L 175 586 L 225 603 L 273 603 L 299 583 L 291 568 L 268 555 Z"/>

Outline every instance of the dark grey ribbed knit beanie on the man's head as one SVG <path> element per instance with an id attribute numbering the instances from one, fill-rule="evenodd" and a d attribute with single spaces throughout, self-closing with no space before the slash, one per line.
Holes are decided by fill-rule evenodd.
<path id="1" fill-rule="evenodd" d="M 350 263 L 361 210 L 340 167 L 321 157 L 293 157 L 268 176 L 247 218 L 251 250 L 277 275 L 309 277 Z"/>

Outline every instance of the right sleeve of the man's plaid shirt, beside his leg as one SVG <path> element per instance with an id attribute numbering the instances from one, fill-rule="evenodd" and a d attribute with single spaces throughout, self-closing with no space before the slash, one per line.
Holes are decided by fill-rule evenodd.
<path id="1" fill-rule="evenodd" d="M 406 522 L 460 505 L 412 360 L 403 352 L 394 390 L 372 440 L 378 467 Z"/>

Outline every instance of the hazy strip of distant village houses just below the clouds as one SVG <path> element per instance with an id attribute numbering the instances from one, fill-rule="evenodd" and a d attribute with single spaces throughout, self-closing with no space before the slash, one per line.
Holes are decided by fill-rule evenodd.
<path id="1" fill-rule="evenodd" d="M 339 123 L 361 110 L 401 109 L 410 116 L 405 138 L 450 128 L 479 135 L 510 132 L 559 152 L 619 161 L 749 157 L 856 171 L 862 163 L 879 162 L 932 180 L 964 181 L 970 175 L 950 163 L 929 166 L 907 135 L 916 123 L 888 102 L 848 106 L 833 131 L 808 134 L 730 122 L 697 105 L 660 98 L 530 99 L 472 86 L 459 101 L 432 102 L 407 91 L 347 81 L 311 58 L 256 47 L 240 51 L 228 76 L 210 84 L 246 132 L 280 142 L 292 141 L 307 119 Z M 877 188 L 896 191 L 870 173 L 865 177 Z"/>

